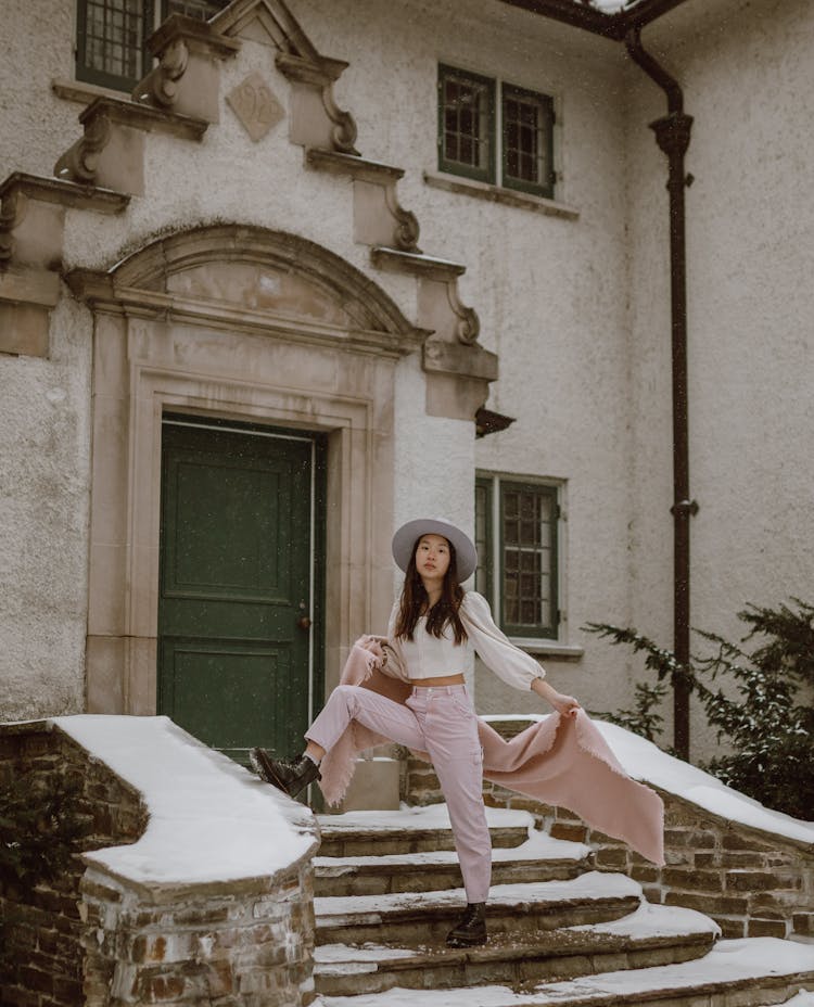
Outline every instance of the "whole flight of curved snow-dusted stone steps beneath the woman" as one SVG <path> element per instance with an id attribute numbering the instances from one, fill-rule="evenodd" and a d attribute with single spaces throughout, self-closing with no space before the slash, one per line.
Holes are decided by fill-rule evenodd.
<path id="1" fill-rule="evenodd" d="M 794 982 L 814 989 L 814 948 L 791 945 L 791 961 L 789 943 L 777 942 L 786 971 L 763 968 L 755 984 L 742 979 L 746 966 L 754 972 L 748 951 L 725 954 L 745 942 L 721 944 L 724 951 L 711 957 L 718 928 L 708 917 L 649 905 L 636 882 L 593 870 L 587 846 L 535 832 L 525 813 L 488 808 L 487 815 L 495 840 L 489 941 L 465 949 L 444 944 L 466 895 L 443 805 L 320 818 L 317 1003 L 740 1007 L 759 1003 L 742 998 L 746 989 L 765 994 L 766 1005 L 796 992 Z M 698 997 L 696 981 L 704 990 Z"/>

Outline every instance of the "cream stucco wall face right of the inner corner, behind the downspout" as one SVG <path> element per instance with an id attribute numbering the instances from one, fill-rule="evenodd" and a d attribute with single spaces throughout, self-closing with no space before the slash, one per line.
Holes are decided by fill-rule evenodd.
<path id="1" fill-rule="evenodd" d="M 643 33 L 694 116 L 687 170 L 691 623 L 742 635 L 746 602 L 811 598 L 814 10 L 688 0 Z M 633 609 L 670 643 L 666 158 L 662 92 L 631 68 Z M 703 738 L 695 724 L 698 751 Z"/>

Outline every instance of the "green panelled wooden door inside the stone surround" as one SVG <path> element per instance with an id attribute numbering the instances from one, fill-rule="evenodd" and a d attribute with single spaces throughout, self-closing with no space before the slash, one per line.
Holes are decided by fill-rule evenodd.
<path id="1" fill-rule="evenodd" d="M 255 744 L 297 752 L 319 663 L 319 445 L 162 431 L 158 712 L 242 763 Z"/>

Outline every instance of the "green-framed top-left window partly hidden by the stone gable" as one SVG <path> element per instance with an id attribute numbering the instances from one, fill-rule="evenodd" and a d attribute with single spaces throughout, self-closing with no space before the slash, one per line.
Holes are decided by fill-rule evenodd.
<path id="1" fill-rule="evenodd" d="M 206 21 L 229 0 L 77 0 L 76 79 L 130 91 L 150 71 L 147 40 L 170 14 Z"/>

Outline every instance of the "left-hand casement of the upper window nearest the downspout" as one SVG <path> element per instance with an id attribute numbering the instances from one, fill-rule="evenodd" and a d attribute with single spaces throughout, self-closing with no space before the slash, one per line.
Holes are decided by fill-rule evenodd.
<path id="1" fill-rule="evenodd" d="M 495 81 L 438 66 L 438 170 L 495 183 Z"/>

